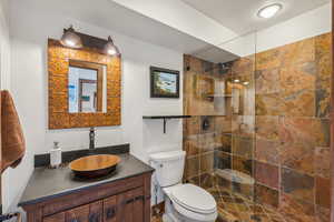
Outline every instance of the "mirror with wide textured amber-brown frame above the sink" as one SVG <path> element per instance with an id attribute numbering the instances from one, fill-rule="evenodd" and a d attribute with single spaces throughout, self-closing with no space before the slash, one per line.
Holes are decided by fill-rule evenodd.
<path id="1" fill-rule="evenodd" d="M 48 40 L 49 129 L 121 124 L 121 58 L 104 54 L 106 40 L 81 34 L 82 49 Z"/>

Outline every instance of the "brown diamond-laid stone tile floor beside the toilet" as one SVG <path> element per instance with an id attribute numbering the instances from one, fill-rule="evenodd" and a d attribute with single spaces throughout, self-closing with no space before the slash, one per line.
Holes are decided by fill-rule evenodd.
<path id="1" fill-rule="evenodd" d="M 256 204 L 230 190 L 214 186 L 207 191 L 217 201 L 219 215 L 216 222 L 286 222 L 275 209 Z M 161 214 L 154 215 L 151 222 L 163 222 Z"/>

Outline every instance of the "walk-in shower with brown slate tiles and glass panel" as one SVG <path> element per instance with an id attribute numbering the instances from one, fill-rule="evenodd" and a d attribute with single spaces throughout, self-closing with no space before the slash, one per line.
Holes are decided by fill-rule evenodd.
<path id="1" fill-rule="evenodd" d="M 186 182 L 218 221 L 330 221 L 331 33 L 225 63 L 184 58 Z"/>

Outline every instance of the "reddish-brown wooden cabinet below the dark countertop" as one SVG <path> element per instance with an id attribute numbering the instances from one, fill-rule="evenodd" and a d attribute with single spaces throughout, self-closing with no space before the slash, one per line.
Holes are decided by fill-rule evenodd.
<path id="1" fill-rule="evenodd" d="M 28 222 L 149 222 L 150 173 L 23 208 Z"/>

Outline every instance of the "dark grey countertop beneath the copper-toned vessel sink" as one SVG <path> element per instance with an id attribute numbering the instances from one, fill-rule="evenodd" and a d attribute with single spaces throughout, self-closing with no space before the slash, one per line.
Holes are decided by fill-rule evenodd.
<path id="1" fill-rule="evenodd" d="M 67 165 L 59 169 L 36 168 L 19 205 L 38 203 L 51 198 L 154 171 L 153 168 L 131 154 L 119 154 L 119 157 L 121 162 L 117 165 L 116 172 L 99 180 L 76 179 Z"/>

